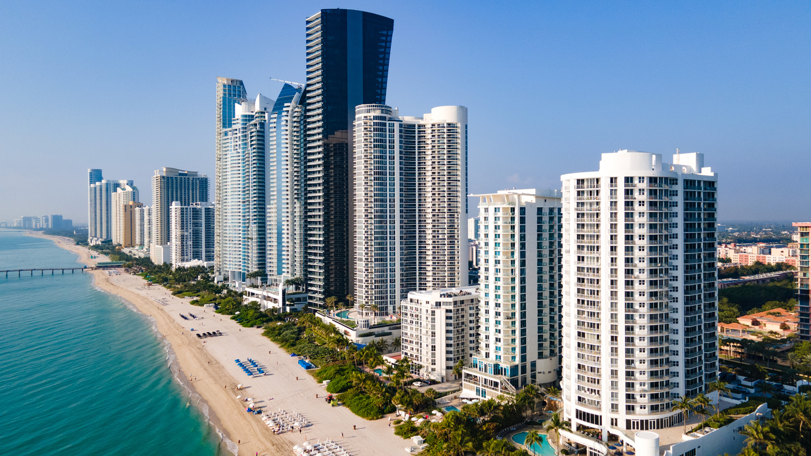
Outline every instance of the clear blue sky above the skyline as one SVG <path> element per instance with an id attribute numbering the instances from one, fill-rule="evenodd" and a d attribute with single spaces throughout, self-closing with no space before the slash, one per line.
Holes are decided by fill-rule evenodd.
<path id="1" fill-rule="evenodd" d="M 304 80 L 320 8 L 394 19 L 388 104 L 466 105 L 470 192 L 706 154 L 722 220 L 811 219 L 809 2 L 0 2 L 0 221 L 87 222 L 87 168 L 214 172 L 215 78 Z M 212 183 L 213 188 L 213 183 Z"/>

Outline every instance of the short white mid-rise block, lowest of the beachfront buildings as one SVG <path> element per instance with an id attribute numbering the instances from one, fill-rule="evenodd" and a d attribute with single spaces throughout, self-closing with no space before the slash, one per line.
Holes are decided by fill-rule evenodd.
<path id="1" fill-rule="evenodd" d="M 456 380 L 453 368 L 470 364 L 478 347 L 478 286 L 412 291 L 401 303 L 402 355 L 412 373 Z"/>

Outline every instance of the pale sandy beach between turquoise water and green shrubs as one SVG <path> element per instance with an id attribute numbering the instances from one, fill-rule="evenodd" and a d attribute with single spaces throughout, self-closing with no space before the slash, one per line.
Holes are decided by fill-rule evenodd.
<path id="1" fill-rule="evenodd" d="M 107 260 L 91 259 L 91 251 L 76 246 L 71 239 L 31 235 L 54 240 L 59 247 L 79 255 L 79 262 L 86 265 Z M 139 312 L 152 316 L 158 333 L 177 356 L 182 377 L 208 403 L 212 424 L 225 432 L 230 441 L 238 442 L 239 455 L 292 455 L 293 446 L 305 440 L 329 439 L 353 456 L 399 455 L 410 446 L 410 441 L 393 434 L 386 417 L 367 421 L 345 407 L 332 407 L 324 402 L 327 394 L 324 387 L 298 365 L 298 358 L 290 357 L 262 336 L 261 329 L 242 328 L 228 316 L 192 306 L 189 299 L 174 297 L 162 286 L 148 286 L 138 276 L 103 270 L 91 273 L 101 290 L 126 299 Z M 183 320 L 180 316 L 181 313 L 189 316 L 190 312 L 198 319 Z M 191 329 L 195 333 L 221 331 L 223 335 L 200 339 Z M 247 358 L 255 359 L 268 375 L 253 378 L 245 375 L 234 359 Z M 235 389 L 238 384 L 242 384 L 242 390 Z M 298 412 L 311 426 L 301 433 L 273 435 L 260 415 L 245 411 L 247 403 L 239 400 L 239 395 L 254 398 L 266 411 Z"/>

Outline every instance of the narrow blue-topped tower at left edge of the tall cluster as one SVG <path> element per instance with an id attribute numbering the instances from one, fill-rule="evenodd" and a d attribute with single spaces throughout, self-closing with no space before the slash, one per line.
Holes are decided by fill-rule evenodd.
<path id="1" fill-rule="evenodd" d="M 242 80 L 217 77 L 217 110 L 216 127 L 214 134 L 214 270 L 221 273 L 221 247 L 222 247 L 222 132 L 231 127 L 234 122 L 234 106 L 247 100 L 247 92 Z"/>

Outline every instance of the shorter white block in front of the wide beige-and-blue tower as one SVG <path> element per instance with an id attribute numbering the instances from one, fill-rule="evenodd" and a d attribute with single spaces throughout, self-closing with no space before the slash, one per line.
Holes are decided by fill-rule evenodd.
<path id="1" fill-rule="evenodd" d="M 172 267 L 192 260 L 214 261 L 214 204 L 208 202 L 169 207 Z"/>

